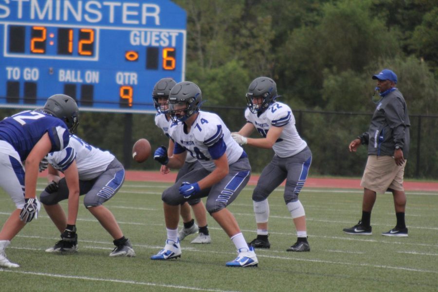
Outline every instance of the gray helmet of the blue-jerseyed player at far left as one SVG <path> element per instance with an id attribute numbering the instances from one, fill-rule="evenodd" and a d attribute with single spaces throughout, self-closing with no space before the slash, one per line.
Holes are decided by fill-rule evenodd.
<path id="1" fill-rule="evenodd" d="M 64 121 L 70 134 L 74 134 L 79 125 L 79 109 L 73 98 L 65 94 L 49 97 L 43 111 Z"/>

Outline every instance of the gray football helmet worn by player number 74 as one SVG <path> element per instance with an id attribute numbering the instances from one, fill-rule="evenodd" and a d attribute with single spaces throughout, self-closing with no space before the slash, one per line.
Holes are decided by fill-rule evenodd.
<path id="1" fill-rule="evenodd" d="M 177 83 L 170 91 L 168 102 L 172 121 L 183 122 L 199 111 L 202 104 L 201 89 L 193 82 Z"/>

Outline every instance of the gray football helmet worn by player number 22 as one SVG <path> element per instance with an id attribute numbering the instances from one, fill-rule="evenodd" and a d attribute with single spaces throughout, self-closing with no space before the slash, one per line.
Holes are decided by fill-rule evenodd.
<path id="1" fill-rule="evenodd" d="M 263 97 L 261 105 L 253 103 L 254 97 Z M 246 106 L 252 113 L 263 112 L 277 97 L 277 85 L 269 77 L 257 77 L 248 87 Z"/>

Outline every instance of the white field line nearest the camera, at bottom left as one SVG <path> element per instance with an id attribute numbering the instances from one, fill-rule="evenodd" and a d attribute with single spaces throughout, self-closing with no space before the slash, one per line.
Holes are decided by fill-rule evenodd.
<path id="1" fill-rule="evenodd" d="M 62 279 L 75 279 L 75 280 L 87 280 L 87 281 L 98 281 L 98 282 L 113 282 L 113 283 L 133 284 L 133 285 L 141 285 L 141 286 L 155 286 L 155 287 L 194 290 L 194 291 L 231 292 L 229 290 L 207 289 L 207 288 L 198 288 L 198 287 L 189 287 L 189 286 L 177 286 L 177 285 L 171 285 L 171 284 L 157 284 L 157 283 L 152 283 L 152 282 L 139 282 L 139 281 L 127 281 L 127 280 L 117 280 L 117 279 L 94 278 L 94 277 L 74 276 L 74 275 L 68 275 L 68 274 L 48 274 L 48 273 L 37 273 L 37 272 L 24 272 L 24 271 L 16 271 L 16 270 L 6 270 L 6 269 L 2 269 L 2 268 L 0 268 L 0 272 L 46 276 L 46 277 L 62 278 Z"/>

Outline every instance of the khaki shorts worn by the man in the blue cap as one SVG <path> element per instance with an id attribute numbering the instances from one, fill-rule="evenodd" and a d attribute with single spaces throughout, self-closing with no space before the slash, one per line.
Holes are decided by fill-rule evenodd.
<path id="1" fill-rule="evenodd" d="M 397 165 L 391 156 L 368 155 L 361 186 L 383 194 L 388 189 L 404 191 L 404 166 Z"/>

